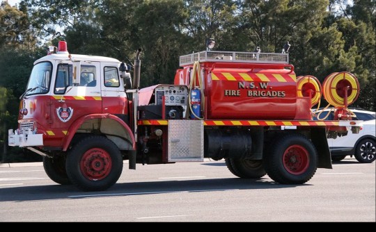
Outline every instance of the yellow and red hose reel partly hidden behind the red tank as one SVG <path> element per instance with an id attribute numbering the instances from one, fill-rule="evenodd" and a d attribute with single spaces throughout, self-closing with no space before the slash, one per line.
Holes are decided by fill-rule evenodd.
<path id="1" fill-rule="evenodd" d="M 315 76 L 297 77 L 297 97 L 311 97 L 311 107 L 315 106 L 321 99 L 321 84 Z"/>

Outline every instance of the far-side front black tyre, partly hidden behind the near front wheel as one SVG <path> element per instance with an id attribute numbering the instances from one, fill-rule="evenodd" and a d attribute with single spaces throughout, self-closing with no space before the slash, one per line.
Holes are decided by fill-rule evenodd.
<path id="1" fill-rule="evenodd" d="M 61 185 L 72 184 L 65 171 L 65 156 L 56 156 L 54 158 L 43 156 L 43 167 L 47 176 L 52 181 Z"/>

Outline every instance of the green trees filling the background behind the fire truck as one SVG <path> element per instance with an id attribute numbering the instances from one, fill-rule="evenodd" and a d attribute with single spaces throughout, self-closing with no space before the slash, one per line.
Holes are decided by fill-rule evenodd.
<path id="1" fill-rule="evenodd" d="M 349 4 L 352 2 L 352 5 Z M 289 41 L 298 76 L 320 81 L 352 72 L 361 93 L 352 105 L 375 110 L 375 0 L 22 0 L 0 8 L 0 112 L 17 126 L 18 97 L 40 44 L 68 42 L 70 53 L 110 56 L 133 63 L 141 53 L 141 87 L 173 83 L 179 56 L 205 50 L 281 52 Z M 323 100 L 324 101 L 324 100 Z M 4 110 L 5 106 L 5 110 Z M 6 116 L 5 116 L 6 115 Z M 3 125 L 0 125 L 3 138 Z M 1 144 L 0 144 L 1 145 Z M 8 158 L 22 160 L 9 148 Z"/>

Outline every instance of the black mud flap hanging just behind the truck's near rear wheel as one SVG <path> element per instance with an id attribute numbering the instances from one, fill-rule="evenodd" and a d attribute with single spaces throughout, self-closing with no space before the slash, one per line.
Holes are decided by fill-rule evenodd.
<path id="1" fill-rule="evenodd" d="M 311 129 L 311 140 L 318 151 L 318 167 L 332 169 L 326 129 L 324 127 L 313 127 Z"/>

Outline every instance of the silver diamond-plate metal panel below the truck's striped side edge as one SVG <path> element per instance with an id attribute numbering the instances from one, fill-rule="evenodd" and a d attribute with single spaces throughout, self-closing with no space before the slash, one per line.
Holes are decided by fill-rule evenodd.
<path id="1" fill-rule="evenodd" d="M 169 162 L 203 161 L 203 121 L 169 120 Z"/>

